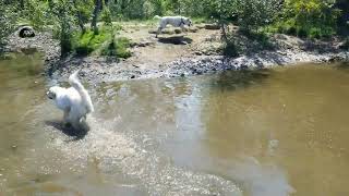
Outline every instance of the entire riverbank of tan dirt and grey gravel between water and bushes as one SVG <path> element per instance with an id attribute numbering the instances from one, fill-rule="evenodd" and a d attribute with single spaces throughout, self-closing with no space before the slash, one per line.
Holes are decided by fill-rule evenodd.
<path id="1" fill-rule="evenodd" d="M 349 52 L 340 50 L 340 41 L 336 40 L 311 41 L 274 35 L 270 38 L 275 46 L 273 50 L 260 50 L 257 44 L 243 40 L 243 54 L 226 58 L 217 52 L 221 47 L 218 29 L 206 29 L 197 25 L 198 28 L 189 33 L 166 34 L 157 39 L 151 34 L 154 26 L 124 26 L 118 36 L 128 37 L 133 42 L 133 56 L 127 60 L 94 56 L 60 59 L 59 42 L 52 39 L 49 33 L 38 33 L 33 38 L 19 38 L 15 33 L 9 38 L 8 51 L 41 51 L 45 53 L 46 75 L 50 78 L 65 81 L 69 74 L 80 69 L 82 76 L 89 83 L 178 77 L 226 70 L 349 60 Z"/>

